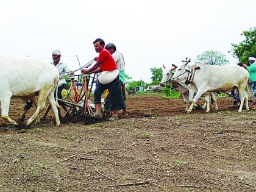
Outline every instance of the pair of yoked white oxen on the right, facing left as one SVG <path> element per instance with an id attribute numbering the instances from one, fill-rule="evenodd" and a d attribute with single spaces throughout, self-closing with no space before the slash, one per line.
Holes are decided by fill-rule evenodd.
<path id="1" fill-rule="evenodd" d="M 174 68 L 163 66 L 163 79 L 160 84 L 165 85 L 168 82 L 177 82 L 177 91 L 182 93 L 187 113 L 192 111 L 197 100 L 203 94 L 207 105 L 206 112 L 210 111 L 210 94 L 215 102 L 215 109 L 218 110 L 213 92 L 229 92 L 234 88 L 238 88 L 241 99 L 238 112 L 242 111 L 244 100 L 246 102 L 246 110 L 249 110 L 249 89 L 247 87 L 249 73 L 243 67 L 238 65 L 217 66 L 210 65 L 207 62 L 201 62 L 193 66 L 188 66 L 187 63 L 183 63 L 179 67 L 173 66 Z M 174 69 L 175 72 L 172 71 Z M 196 93 L 195 96 L 194 93 Z M 189 103 L 191 105 L 188 108 Z"/>

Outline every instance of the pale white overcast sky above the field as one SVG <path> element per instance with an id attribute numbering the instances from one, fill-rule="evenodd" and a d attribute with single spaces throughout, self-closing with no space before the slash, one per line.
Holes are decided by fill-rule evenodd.
<path id="1" fill-rule="evenodd" d="M 51 60 L 54 49 L 71 69 L 96 54 L 93 41 L 115 43 L 134 80 L 149 68 L 194 60 L 203 51 L 228 51 L 256 26 L 254 0 L 1 0 L 0 55 Z"/>

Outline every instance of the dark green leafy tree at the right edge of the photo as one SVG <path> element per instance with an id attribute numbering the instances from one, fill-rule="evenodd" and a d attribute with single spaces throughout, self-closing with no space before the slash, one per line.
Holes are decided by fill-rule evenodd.
<path id="1" fill-rule="evenodd" d="M 232 55 L 240 60 L 242 63 L 248 62 L 248 56 L 256 54 L 256 27 L 249 30 L 244 30 L 243 34 L 245 40 L 238 44 L 232 43 Z"/>

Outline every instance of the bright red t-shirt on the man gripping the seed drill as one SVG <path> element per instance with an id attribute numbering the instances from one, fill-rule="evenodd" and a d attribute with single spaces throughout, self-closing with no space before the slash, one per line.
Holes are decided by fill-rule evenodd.
<path id="1" fill-rule="evenodd" d="M 117 69 L 116 62 L 107 49 L 102 49 L 101 52 L 99 52 L 98 61 L 102 62 L 99 66 L 102 71 L 113 71 Z"/>

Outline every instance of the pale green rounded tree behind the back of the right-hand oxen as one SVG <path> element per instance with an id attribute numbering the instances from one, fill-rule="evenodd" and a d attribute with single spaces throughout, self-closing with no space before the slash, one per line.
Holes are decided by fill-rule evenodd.
<path id="1" fill-rule="evenodd" d="M 196 56 L 194 63 L 200 63 L 207 61 L 210 65 L 226 65 L 229 60 L 226 59 L 226 55 L 218 51 L 204 51 L 202 54 Z"/>

